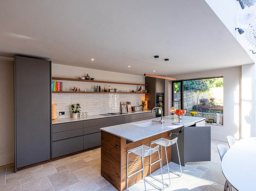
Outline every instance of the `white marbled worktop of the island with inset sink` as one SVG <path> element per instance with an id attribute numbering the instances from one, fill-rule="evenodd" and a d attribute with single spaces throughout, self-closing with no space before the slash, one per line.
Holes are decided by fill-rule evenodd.
<path id="1" fill-rule="evenodd" d="M 164 119 L 165 119 L 164 124 L 156 124 L 148 127 L 140 127 L 134 124 L 138 124 L 146 121 L 152 121 L 152 119 L 137 121 L 132 123 L 125 123 L 125 124 L 115 125 L 111 127 L 104 127 L 104 128 L 100 128 L 100 130 L 106 131 L 113 135 L 135 142 L 150 136 L 154 136 L 160 133 L 164 133 L 166 131 L 183 127 L 183 125 L 172 124 L 173 122 L 179 121 L 176 119 L 176 117 L 177 115 L 164 116 Z M 185 127 L 193 125 L 199 121 L 205 120 L 205 118 L 202 118 L 202 117 L 182 116 L 182 118 L 183 119 L 181 120 L 181 122 L 184 123 Z M 153 121 L 155 120 L 160 120 L 160 118 L 158 117 L 156 119 L 153 119 Z"/>

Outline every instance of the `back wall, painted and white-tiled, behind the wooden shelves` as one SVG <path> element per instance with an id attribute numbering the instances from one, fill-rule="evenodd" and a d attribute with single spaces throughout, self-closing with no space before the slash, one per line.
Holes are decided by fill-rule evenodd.
<path id="1" fill-rule="evenodd" d="M 95 78 L 95 80 L 145 84 L 144 76 L 52 64 L 52 77 L 79 78 L 85 77 L 87 74 L 91 78 Z M 103 88 L 108 89 L 109 85 L 111 88 L 116 88 L 117 91 L 120 89 L 127 92 L 137 91 L 140 88 L 137 85 L 63 81 L 63 91 L 71 91 L 70 88 L 76 86 L 80 87 L 81 91 L 86 89 L 87 92 L 90 92 L 90 89 L 94 88 L 94 92 L 96 92 L 97 85 L 101 86 L 102 92 Z M 142 90 L 144 89 L 145 86 L 142 86 Z M 142 100 L 145 100 L 145 94 L 60 93 L 59 95 L 58 93 L 52 93 L 52 104 L 57 104 L 57 117 L 60 111 L 65 112 L 65 115 L 62 115 L 60 118 L 71 117 L 71 104 L 79 103 L 82 107 L 82 112 L 89 112 L 92 115 L 121 112 L 120 101 L 130 101 L 132 105 L 140 105 Z"/>

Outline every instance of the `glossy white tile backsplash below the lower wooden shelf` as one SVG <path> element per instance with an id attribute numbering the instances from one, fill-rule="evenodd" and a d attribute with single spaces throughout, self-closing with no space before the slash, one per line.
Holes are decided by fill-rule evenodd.
<path id="1" fill-rule="evenodd" d="M 145 94 L 129 93 L 52 93 L 52 104 L 57 104 L 57 117 L 59 112 L 65 115 L 59 118 L 71 117 L 71 104 L 79 103 L 81 112 L 89 112 L 89 115 L 121 112 L 120 101 L 130 101 L 132 106 L 141 104 Z"/>

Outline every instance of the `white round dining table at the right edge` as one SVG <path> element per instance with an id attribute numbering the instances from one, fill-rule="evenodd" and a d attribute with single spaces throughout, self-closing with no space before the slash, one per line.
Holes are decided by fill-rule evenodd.
<path id="1" fill-rule="evenodd" d="M 233 144 L 222 158 L 221 169 L 236 190 L 256 190 L 256 137 Z"/>

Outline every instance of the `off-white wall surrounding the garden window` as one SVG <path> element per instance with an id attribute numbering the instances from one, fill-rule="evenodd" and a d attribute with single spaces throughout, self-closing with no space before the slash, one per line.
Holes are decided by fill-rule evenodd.
<path id="1" fill-rule="evenodd" d="M 172 75 L 177 80 L 220 76 L 223 76 L 224 85 L 224 121 L 223 127 L 212 125 L 212 138 L 226 141 L 226 136 L 232 135 L 239 139 L 241 137 L 239 130 L 241 129 L 241 67 Z M 169 92 L 169 97 L 171 97 L 170 94 L 171 92 Z M 169 107 L 171 107 L 170 101 Z"/>

